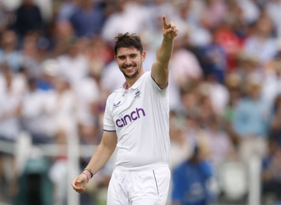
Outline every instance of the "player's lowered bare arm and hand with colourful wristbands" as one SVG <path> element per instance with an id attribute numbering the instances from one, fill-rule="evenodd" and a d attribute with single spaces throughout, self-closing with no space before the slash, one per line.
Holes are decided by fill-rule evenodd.
<path id="1" fill-rule="evenodd" d="M 103 137 L 100 144 L 98 145 L 96 151 L 94 152 L 89 164 L 87 165 L 93 172 L 97 173 L 109 160 L 112 153 L 114 152 L 117 145 L 117 135 L 116 132 L 104 131 Z M 87 170 L 84 170 L 91 176 L 91 173 Z M 86 191 L 84 186 L 87 183 L 87 175 L 81 173 L 79 176 L 75 177 L 72 181 L 72 187 L 78 193 L 83 193 Z"/>

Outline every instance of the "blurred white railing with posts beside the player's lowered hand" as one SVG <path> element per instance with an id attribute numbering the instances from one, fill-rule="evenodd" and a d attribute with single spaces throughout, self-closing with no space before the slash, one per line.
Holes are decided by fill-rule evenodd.
<path id="1" fill-rule="evenodd" d="M 79 174 L 79 158 L 91 157 L 96 150 L 96 147 L 97 145 L 79 145 L 78 137 L 75 134 L 68 135 L 67 145 L 33 145 L 31 137 L 27 132 L 22 132 L 15 143 L 0 140 L 0 151 L 15 156 L 15 168 L 19 174 L 23 172 L 25 163 L 28 159 L 32 157 L 40 157 L 40 155 L 43 155 L 44 157 L 56 157 L 61 154 L 61 150 L 67 150 L 67 183 L 69 184 L 69 186 L 67 186 L 68 205 L 80 204 L 79 194 L 76 193 L 71 186 L 73 178 Z"/>

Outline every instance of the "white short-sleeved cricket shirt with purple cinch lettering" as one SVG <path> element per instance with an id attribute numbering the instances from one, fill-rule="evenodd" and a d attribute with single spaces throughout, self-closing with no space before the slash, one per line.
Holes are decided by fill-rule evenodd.
<path id="1" fill-rule="evenodd" d="M 128 90 L 126 83 L 108 98 L 105 131 L 117 133 L 115 165 L 144 166 L 170 161 L 169 93 L 145 72 Z"/>

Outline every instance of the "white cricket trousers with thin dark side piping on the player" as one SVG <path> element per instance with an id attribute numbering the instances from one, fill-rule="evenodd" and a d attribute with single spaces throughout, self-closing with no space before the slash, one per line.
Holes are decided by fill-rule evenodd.
<path id="1" fill-rule="evenodd" d="M 168 163 L 117 165 L 109 182 L 107 205 L 164 205 L 170 179 Z"/>

